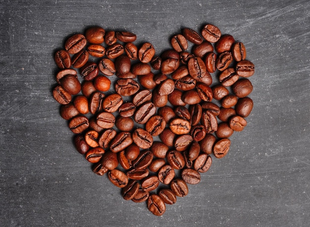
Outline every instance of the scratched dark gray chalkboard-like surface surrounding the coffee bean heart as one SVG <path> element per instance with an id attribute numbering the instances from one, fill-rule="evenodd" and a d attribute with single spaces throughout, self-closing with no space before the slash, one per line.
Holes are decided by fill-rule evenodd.
<path id="1" fill-rule="evenodd" d="M 309 0 L 1 0 L 0 226 L 308 226 Z M 212 23 L 256 65 L 255 107 L 223 159 L 162 217 L 125 201 L 75 150 L 53 100 L 53 53 L 92 25 L 157 51 Z"/>

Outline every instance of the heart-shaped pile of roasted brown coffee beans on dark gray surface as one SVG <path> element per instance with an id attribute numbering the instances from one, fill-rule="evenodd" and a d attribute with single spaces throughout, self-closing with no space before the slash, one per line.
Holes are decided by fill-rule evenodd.
<path id="1" fill-rule="evenodd" d="M 227 154 L 253 108 L 245 45 L 211 24 L 200 32 L 184 28 L 156 54 L 131 32 L 91 27 L 54 55 L 53 97 L 76 149 L 157 216 Z"/>

